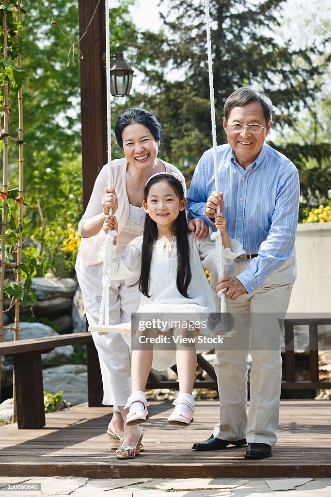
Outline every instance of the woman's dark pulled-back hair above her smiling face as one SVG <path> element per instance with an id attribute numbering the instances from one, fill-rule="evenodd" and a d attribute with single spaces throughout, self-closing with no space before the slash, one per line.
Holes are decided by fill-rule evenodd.
<path id="1" fill-rule="evenodd" d="M 149 129 L 156 142 L 161 142 L 162 127 L 154 114 L 145 109 L 131 107 L 126 109 L 116 119 L 115 136 L 119 147 L 123 150 L 123 130 L 130 124 L 143 124 Z"/>

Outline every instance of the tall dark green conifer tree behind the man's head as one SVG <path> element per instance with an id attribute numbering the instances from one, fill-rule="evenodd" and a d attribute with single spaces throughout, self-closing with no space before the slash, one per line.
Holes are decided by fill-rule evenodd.
<path id="1" fill-rule="evenodd" d="M 162 30 L 140 37 L 139 52 L 149 62 L 141 68 L 148 89 L 136 92 L 131 101 L 157 115 L 164 131 L 162 157 L 190 175 L 201 153 L 211 146 L 204 2 L 167 3 Z M 218 143 L 225 141 L 224 101 L 235 88 L 245 84 L 263 88 L 274 103 L 279 129 L 292 126 L 320 89 L 327 61 L 320 65 L 316 61 L 323 46 L 312 38 L 310 46 L 293 48 L 281 38 L 283 5 L 284 0 L 210 1 Z M 180 75 L 175 81 L 173 70 Z"/>

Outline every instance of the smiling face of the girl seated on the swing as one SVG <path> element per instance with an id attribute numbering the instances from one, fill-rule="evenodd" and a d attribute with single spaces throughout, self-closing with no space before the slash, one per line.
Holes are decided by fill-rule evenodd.
<path id="1" fill-rule="evenodd" d="M 157 225 L 171 228 L 179 212 L 185 210 L 186 198 L 181 200 L 168 181 L 162 180 L 150 187 L 147 201 L 142 205 Z"/>

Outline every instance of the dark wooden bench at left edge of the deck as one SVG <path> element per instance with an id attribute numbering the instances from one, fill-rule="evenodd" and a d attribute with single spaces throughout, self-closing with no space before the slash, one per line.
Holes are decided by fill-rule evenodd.
<path id="1" fill-rule="evenodd" d="M 98 353 L 91 333 L 70 333 L 0 343 L 0 356 L 13 356 L 18 428 L 45 426 L 43 366 L 41 354 L 56 347 L 86 344 L 88 405 L 102 405 L 102 380 Z M 60 386 L 61 387 L 61 386 Z"/>

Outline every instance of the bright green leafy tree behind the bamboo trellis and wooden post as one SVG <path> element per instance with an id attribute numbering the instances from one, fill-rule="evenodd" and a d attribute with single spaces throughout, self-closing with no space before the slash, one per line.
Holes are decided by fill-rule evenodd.
<path id="1" fill-rule="evenodd" d="M 7 21 L 14 33 L 15 2 L 10 3 Z M 111 36 L 116 40 L 111 45 L 112 53 L 124 48 L 124 39 L 135 42 L 135 26 L 129 13 L 132 3 L 129 0 L 110 10 Z M 31 0 L 25 8 L 26 13 L 21 14 L 21 37 L 14 39 L 12 34 L 7 58 L 6 77 L 12 81 L 9 134 L 17 137 L 16 91 L 22 80 L 27 204 L 23 240 L 32 236 L 43 257 L 53 264 L 61 260 L 59 254 L 65 255 L 65 251 L 61 254 L 59 250 L 67 236 L 67 225 L 75 226 L 82 214 L 79 54 L 77 49 L 73 51 L 73 43 L 79 39 L 78 2 Z M 102 3 L 99 8 L 104 8 Z M 1 36 L 0 32 L 0 42 Z M 19 74 L 15 69 L 18 51 L 23 70 Z M 1 73 L 4 69 L 0 68 Z M 9 182 L 16 186 L 17 148 L 14 142 L 10 146 Z M 50 234 L 58 247 L 55 243 L 49 246 Z"/>

